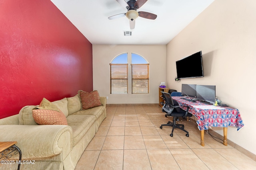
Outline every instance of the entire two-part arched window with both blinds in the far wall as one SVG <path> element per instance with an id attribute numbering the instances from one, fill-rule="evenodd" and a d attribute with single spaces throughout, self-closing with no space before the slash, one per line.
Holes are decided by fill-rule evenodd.
<path id="1" fill-rule="evenodd" d="M 132 94 L 147 94 L 149 64 L 138 54 L 132 53 L 130 56 Z M 128 53 L 118 55 L 110 63 L 110 94 L 128 94 Z"/>

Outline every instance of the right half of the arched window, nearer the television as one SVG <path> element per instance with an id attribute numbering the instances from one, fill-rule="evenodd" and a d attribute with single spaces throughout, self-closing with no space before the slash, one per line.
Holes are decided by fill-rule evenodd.
<path id="1" fill-rule="evenodd" d="M 149 93 L 148 62 L 140 55 L 132 53 L 132 94 Z"/>

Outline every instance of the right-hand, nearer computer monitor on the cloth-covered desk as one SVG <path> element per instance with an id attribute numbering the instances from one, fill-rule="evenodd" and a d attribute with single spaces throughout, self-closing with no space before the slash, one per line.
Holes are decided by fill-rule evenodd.
<path id="1" fill-rule="evenodd" d="M 206 102 L 215 103 L 216 86 L 196 85 L 196 98 Z"/>

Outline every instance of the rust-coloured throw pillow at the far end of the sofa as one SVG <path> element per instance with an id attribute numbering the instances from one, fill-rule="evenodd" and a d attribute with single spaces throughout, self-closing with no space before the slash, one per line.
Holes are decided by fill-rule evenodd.
<path id="1" fill-rule="evenodd" d="M 78 94 L 80 96 L 80 101 L 81 101 L 81 110 L 102 105 L 100 102 L 100 96 L 97 90 L 94 90 L 90 93 L 79 90 Z"/>

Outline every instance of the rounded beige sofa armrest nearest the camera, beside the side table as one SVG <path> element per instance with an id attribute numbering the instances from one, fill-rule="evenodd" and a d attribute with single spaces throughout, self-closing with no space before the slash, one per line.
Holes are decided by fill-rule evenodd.
<path id="1" fill-rule="evenodd" d="M 0 141 L 17 141 L 22 158 L 43 158 L 72 150 L 72 128 L 67 125 L 0 125 Z"/>

